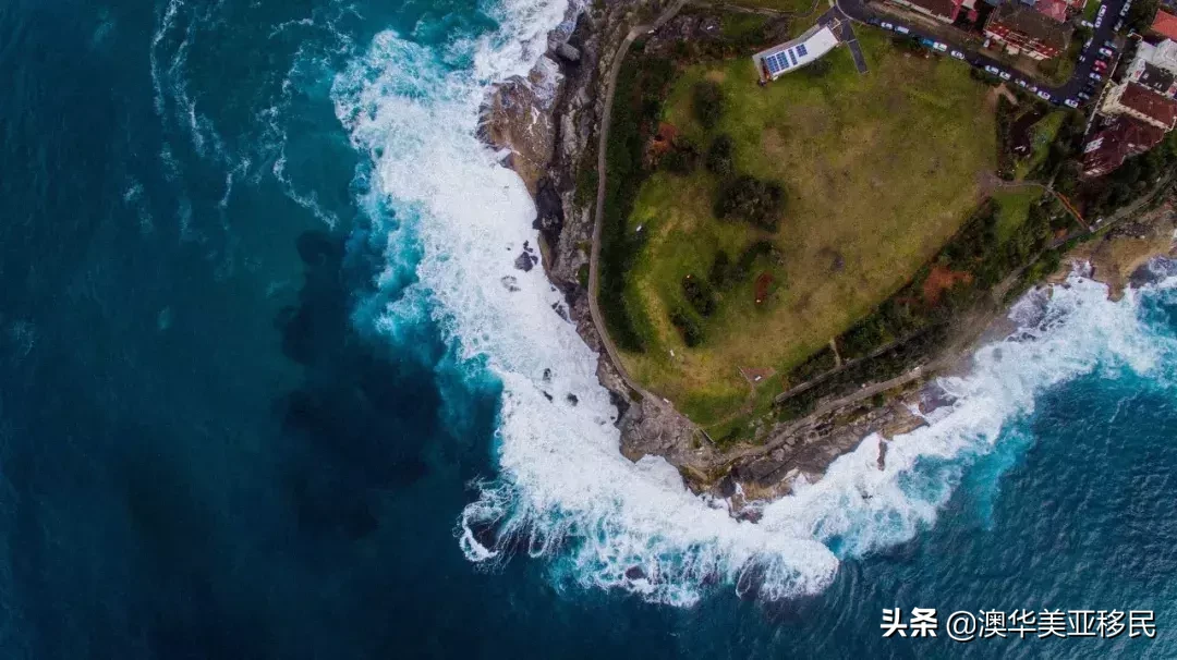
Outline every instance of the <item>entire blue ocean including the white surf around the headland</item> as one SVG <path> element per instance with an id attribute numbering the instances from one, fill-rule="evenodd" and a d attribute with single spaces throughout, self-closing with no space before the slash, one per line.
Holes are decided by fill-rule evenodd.
<path id="1" fill-rule="evenodd" d="M 620 456 L 477 136 L 567 15 L 0 7 L 0 656 L 1177 655 L 1170 265 L 1028 295 L 885 469 L 864 439 L 759 524 Z"/>

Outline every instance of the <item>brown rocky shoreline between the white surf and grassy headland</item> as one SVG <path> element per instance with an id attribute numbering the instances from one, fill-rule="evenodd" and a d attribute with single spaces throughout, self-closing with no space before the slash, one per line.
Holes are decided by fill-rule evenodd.
<path id="1" fill-rule="evenodd" d="M 887 388 L 882 402 L 878 398 L 857 398 L 845 405 L 836 401 L 802 420 L 779 424 L 769 440 L 756 447 L 720 452 L 710 441 L 700 441 L 701 434 L 690 421 L 631 392 L 603 349 L 588 312 L 585 273 L 593 200 L 585 194 L 586 181 L 578 176 L 583 178 L 584 171 L 596 172 L 603 85 L 618 46 L 643 15 L 659 9 L 657 4 L 620 0 L 570 9 L 564 24 L 548 35 L 548 52 L 531 74 L 494 89 L 485 106 L 483 136 L 503 151 L 536 200 L 540 256 L 525 249 L 516 267 L 530 269 L 541 260 L 552 284 L 564 293 L 567 308 L 556 312 L 574 322 L 599 355 L 598 376 L 620 413 L 621 453 L 631 460 L 664 456 L 692 489 L 730 498 L 737 515 L 754 519 L 757 502 L 787 494 L 800 475 L 809 481 L 819 479 L 834 459 L 872 433 L 884 439 L 878 456 L 882 468 L 886 440 L 925 425 L 925 414 L 951 402 L 932 382 L 933 376 L 966 371 L 980 344 L 1004 338 L 1013 328 L 1004 313 L 986 318 L 984 332 L 963 335 L 936 360 L 913 365 L 909 372 L 912 378 Z M 703 29 L 704 22 L 705 18 L 679 16 L 663 32 Z M 596 178 L 590 182 L 594 196 Z M 1175 216 L 1172 199 L 1163 199 L 1139 219 L 1124 220 L 1072 249 L 1051 281 L 1065 280 L 1076 262 L 1090 264 L 1092 276 L 1106 284 L 1111 295 L 1121 295 L 1125 286 L 1143 281 L 1142 268 L 1152 256 L 1172 255 Z"/>

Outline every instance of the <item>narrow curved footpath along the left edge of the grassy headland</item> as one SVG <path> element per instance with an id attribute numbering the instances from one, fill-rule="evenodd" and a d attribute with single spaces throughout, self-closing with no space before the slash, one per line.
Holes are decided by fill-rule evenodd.
<path id="1" fill-rule="evenodd" d="M 621 64 L 625 61 L 625 54 L 630 51 L 633 41 L 638 36 L 665 25 L 666 21 L 678 14 L 686 2 L 687 0 L 674 0 L 674 4 L 659 14 L 654 19 L 654 22 L 639 25 L 630 29 L 629 34 L 621 41 L 621 46 L 617 49 L 617 55 L 613 56 L 613 66 L 609 69 L 609 80 L 605 82 L 605 107 L 600 118 L 600 135 L 597 145 L 597 206 L 593 208 L 592 251 L 588 255 L 588 313 L 592 315 L 593 325 L 597 326 L 597 334 L 600 335 L 600 342 L 605 347 L 605 352 L 609 353 L 609 359 L 613 361 L 617 373 L 630 389 L 641 394 L 651 402 L 664 404 L 664 399 L 650 394 L 630 378 L 629 372 L 625 371 L 625 365 L 621 364 L 621 356 L 617 351 L 617 346 L 613 345 L 613 340 L 609 336 L 605 318 L 601 315 L 600 306 L 597 304 L 597 292 L 600 287 L 600 228 L 605 222 L 606 155 L 609 154 L 609 128 L 613 115 L 613 92 L 617 89 L 617 75 L 621 73 Z"/>

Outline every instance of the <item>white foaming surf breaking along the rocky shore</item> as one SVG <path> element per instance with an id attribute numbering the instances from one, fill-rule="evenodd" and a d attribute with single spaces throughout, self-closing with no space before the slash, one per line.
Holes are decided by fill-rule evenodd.
<path id="1" fill-rule="evenodd" d="M 1078 276 L 1040 306 L 1016 340 L 982 349 L 966 378 L 943 380 L 957 401 L 935 424 L 891 441 L 878 469 L 867 438 L 816 484 L 764 507 L 758 524 L 692 495 L 660 459 L 618 452 L 616 411 L 596 378 L 597 355 L 552 311 L 559 294 L 540 269 L 512 267 L 534 208 L 523 184 L 476 136 L 488 85 L 525 74 L 563 0 L 511 0 L 503 28 L 428 48 L 379 34 L 340 73 L 332 98 L 357 148 L 375 167 L 370 208 L 387 205 L 387 281 L 417 281 L 381 311 L 399 336 L 423 315 L 446 333 L 472 380 L 503 386 L 499 475 L 463 513 L 459 544 L 493 565 L 512 552 L 552 560 L 560 584 L 624 588 L 667 604 L 694 602 L 707 585 L 779 599 L 823 589 L 839 558 L 910 539 L 931 524 L 970 456 L 1035 396 L 1100 365 L 1152 368 L 1171 351 L 1142 332 L 1137 294 L 1110 302 Z M 387 201 L 386 201 L 387 200 Z M 576 396 L 576 402 L 567 398 Z"/>

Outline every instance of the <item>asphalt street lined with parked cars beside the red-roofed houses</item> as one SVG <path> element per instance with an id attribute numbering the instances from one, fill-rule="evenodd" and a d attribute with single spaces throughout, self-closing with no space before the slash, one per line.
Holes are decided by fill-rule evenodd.
<path id="1" fill-rule="evenodd" d="M 1097 0 L 1089 0 L 1089 1 L 1095 2 Z M 1037 89 L 1049 94 L 1050 101 L 1053 102 L 1055 105 L 1063 105 L 1063 102 L 1066 101 L 1068 99 L 1075 99 L 1076 101 L 1079 101 L 1082 105 L 1082 100 L 1077 99 L 1076 94 L 1078 94 L 1083 89 L 1083 87 L 1091 80 L 1090 78 L 1091 69 L 1092 66 L 1095 65 L 1096 55 L 1099 48 L 1104 45 L 1105 41 L 1113 40 L 1116 38 L 1116 31 L 1115 31 L 1116 21 L 1119 20 L 1119 11 L 1121 8 L 1123 8 L 1124 2 L 1128 0 L 1105 0 L 1103 2 L 1103 5 L 1106 7 L 1103 21 L 1099 24 L 1099 27 L 1095 29 L 1095 35 L 1091 38 L 1090 45 L 1088 45 L 1088 47 L 1082 53 L 1083 60 L 1076 65 L 1075 73 L 1071 74 L 1071 78 L 1066 82 L 1057 86 L 1050 86 L 1050 85 L 1036 86 L 1036 84 L 1032 80 L 1025 80 L 1026 82 L 1025 86 L 1026 87 L 1036 86 Z M 951 49 L 962 52 L 964 54 L 965 61 L 967 61 L 970 65 L 975 67 L 985 68 L 988 66 L 988 67 L 995 67 L 1003 72 L 1006 71 L 1006 66 L 1003 62 L 993 58 L 990 58 L 989 55 L 982 53 L 975 47 L 964 44 L 963 41 L 953 42 L 951 39 L 943 38 L 943 35 L 937 36 L 927 33 L 926 31 L 922 31 L 916 25 L 902 24 L 900 21 L 897 21 L 891 16 L 883 16 L 882 14 L 876 14 L 866 6 L 865 0 L 837 0 L 836 4 L 838 9 L 842 11 L 842 13 L 846 14 L 847 16 L 850 16 L 856 21 L 871 25 L 879 25 L 880 22 L 886 21 L 889 24 L 893 24 L 896 27 L 906 28 L 909 31 L 907 34 L 909 36 L 946 42 Z M 1113 67 L 1109 66 L 1108 73 L 1111 73 L 1112 68 Z M 1018 74 L 1018 72 L 1008 72 L 1008 74 L 1012 80 L 1023 79 L 1023 76 Z M 1106 78 L 1108 76 L 1104 75 L 1104 79 Z M 1095 98 L 1096 94 L 1092 94 L 1092 99 Z"/>

